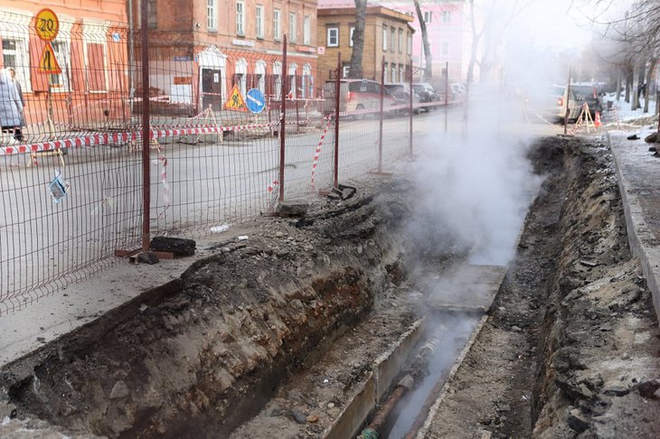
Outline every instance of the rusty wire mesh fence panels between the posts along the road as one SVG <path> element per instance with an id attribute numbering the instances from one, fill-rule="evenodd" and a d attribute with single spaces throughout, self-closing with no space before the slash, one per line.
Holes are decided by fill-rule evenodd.
<path id="1" fill-rule="evenodd" d="M 22 120 L 5 125 L 0 70 L 1 315 L 139 249 L 146 188 L 140 33 L 61 20 L 49 44 L 33 17 L 0 13 L 0 22 L 10 29 L 3 66 L 14 68 L 24 103 Z M 314 83 L 316 58 L 288 54 L 283 65 L 281 52 L 192 33 L 149 41 L 151 236 L 202 237 L 272 212 L 282 185 L 286 200 L 330 189 L 337 124 L 340 182 L 376 166 L 379 109 L 340 107 L 337 120 L 335 90 Z M 382 156 L 391 161 L 409 151 L 410 107 L 387 110 Z"/>

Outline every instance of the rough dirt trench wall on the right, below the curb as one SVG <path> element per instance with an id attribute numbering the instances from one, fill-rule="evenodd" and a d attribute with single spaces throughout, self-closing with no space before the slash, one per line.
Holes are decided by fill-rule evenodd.
<path id="1" fill-rule="evenodd" d="M 656 362 L 657 343 L 646 341 L 656 341 L 655 313 L 627 248 L 612 156 L 588 141 L 567 148 L 565 166 L 570 186 L 540 331 L 533 436 L 652 437 L 656 405 L 637 386 L 656 375 L 638 366 Z"/>

